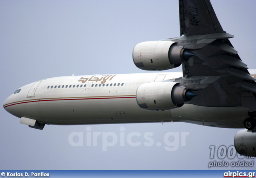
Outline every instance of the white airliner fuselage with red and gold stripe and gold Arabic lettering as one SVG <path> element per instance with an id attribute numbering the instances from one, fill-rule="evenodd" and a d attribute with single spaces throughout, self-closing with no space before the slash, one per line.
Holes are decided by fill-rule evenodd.
<path id="1" fill-rule="evenodd" d="M 243 128 L 241 121 L 248 110 L 242 107 L 184 104 L 173 110 L 148 111 L 138 106 L 138 86 L 181 76 L 182 72 L 166 72 L 48 78 L 21 87 L 6 99 L 4 108 L 17 117 L 57 125 L 184 121 Z"/>

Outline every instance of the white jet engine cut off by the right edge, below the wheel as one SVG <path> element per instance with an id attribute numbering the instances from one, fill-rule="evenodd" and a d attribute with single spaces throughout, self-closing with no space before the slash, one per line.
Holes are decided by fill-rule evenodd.
<path id="1" fill-rule="evenodd" d="M 236 152 L 245 156 L 256 156 L 256 132 L 240 130 L 234 138 Z"/>

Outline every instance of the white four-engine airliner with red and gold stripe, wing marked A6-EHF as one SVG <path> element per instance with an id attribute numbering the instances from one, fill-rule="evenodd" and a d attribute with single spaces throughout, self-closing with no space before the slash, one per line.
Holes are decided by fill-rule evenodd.
<path id="1" fill-rule="evenodd" d="M 236 133 L 241 155 L 256 155 L 256 69 L 249 70 L 209 0 L 179 0 L 180 37 L 137 44 L 142 70 L 182 72 L 47 78 L 18 88 L 3 104 L 20 123 L 47 125 L 186 122 Z M 252 74 L 252 75 L 251 75 Z"/>

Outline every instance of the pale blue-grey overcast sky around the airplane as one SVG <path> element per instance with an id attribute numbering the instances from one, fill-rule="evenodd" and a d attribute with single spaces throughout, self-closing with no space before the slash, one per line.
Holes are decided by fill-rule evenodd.
<path id="1" fill-rule="evenodd" d="M 211 0 L 215 13 L 240 58 L 256 68 L 256 1 Z M 28 83 L 55 76 L 145 72 L 136 68 L 132 50 L 137 43 L 178 37 L 178 0 L 0 0 L 1 103 Z M 169 70 L 182 71 L 182 68 Z M 233 145 L 240 129 L 204 127 L 188 123 L 116 125 L 46 125 L 42 131 L 19 123 L 0 108 L 0 169 L 167 169 L 208 170 L 210 146 Z M 83 146 L 69 141 L 83 133 Z M 103 151 L 86 145 L 87 132 L 113 132 L 117 144 Z M 147 147 L 144 133 L 153 133 Z M 166 151 L 164 136 L 176 132 L 176 151 Z M 131 146 L 124 138 L 141 134 Z M 187 135 L 182 141 L 182 134 Z M 81 138 L 81 137 L 80 137 Z M 74 136 L 72 141 L 81 141 Z M 170 137 L 169 142 L 174 142 Z M 178 141 L 178 143 L 177 143 Z M 111 142 L 111 139 L 108 139 Z M 160 145 L 161 143 L 161 145 Z M 186 143 L 186 146 L 184 146 Z M 183 145 L 183 146 L 182 146 Z M 237 156 L 224 161 L 239 161 Z M 251 162 L 252 159 L 243 159 Z M 212 169 L 255 169 L 212 167 Z"/>

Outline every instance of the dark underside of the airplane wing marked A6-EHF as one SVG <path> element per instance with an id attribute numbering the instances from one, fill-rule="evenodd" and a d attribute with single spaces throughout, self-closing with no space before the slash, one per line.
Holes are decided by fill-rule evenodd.
<path id="1" fill-rule="evenodd" d="M 181 37 L 168 40 L 178 42 L 195 54 L 182 62 L 183 77 L 176 79 L 201 96 L 190 103 L 211 107 L 244 106 L 254 111 L 256 106 L 246 104 L 244 98 L 255 100 L 255 78 L 230 43 L 229 38 L 234 36 L 223 31 L 210 0 L 179 0 L 179 8 Z"/>

